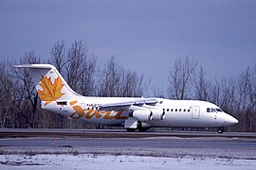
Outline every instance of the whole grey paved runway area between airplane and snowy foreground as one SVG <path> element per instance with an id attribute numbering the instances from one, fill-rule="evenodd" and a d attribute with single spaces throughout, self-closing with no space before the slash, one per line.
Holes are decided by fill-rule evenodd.
<path id="1" fill-rule="evenodd" d="M 0 151 L 3 153 L 27 153 L 29 151 L 35 154 L 56 154 L 76 151 L 81 154 L 193 156 L 256 160 L 254 133 L 217 134 L 214 132 L 166 131 L 127 133 L 124 130 L 74 129 L 0 130 L 2 137 L 3 134 L 11 132 L 21 134 L 29 132 L 28 134 L 32 135 L 26 138 L 18 137 L 19 135 L 16 138 L 5 136 L 0 139 Z M 44 135 L 37 136 L 36 134 Z M 95 135 L 96 137 L 93 137 Z"/>

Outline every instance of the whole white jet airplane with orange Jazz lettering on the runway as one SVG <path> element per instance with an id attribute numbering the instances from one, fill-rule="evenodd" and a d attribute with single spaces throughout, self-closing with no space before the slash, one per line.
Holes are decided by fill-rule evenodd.
<path id="1" fill-rule="evenodd" d="M 70 119 L 105 126 L 146 131 L 150 127 L 224 127 L 238 120 L 218 106 L 198 100 L 144 97 L 97 97 L 75 93 L 59 71 L 50 64 L 13 65 L 27 68 L 41 99 L 41 107 Z"/>

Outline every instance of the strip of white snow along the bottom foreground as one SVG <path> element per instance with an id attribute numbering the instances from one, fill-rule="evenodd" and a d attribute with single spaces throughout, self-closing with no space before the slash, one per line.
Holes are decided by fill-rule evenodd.
<path id="1" fill-rule="evenodd" d="M 207 157 L 140 157 L 101 154 L 8 154 L 0 155 L 0 169 L 256 169 L 255 160 L 234 160 L 230 158 Z"/>

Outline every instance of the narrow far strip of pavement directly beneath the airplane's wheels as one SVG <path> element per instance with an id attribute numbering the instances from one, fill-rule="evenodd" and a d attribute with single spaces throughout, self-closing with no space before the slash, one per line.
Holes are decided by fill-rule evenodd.
<path id="1" fill-rule="evenodd" d="M 147 138 L 147 137 L 225 137 L 256 139 L 256 133 L 215 131 L 147 131 L 126 132 L 125 129 L 68 129 L 68 128 L 0 128 L 0 138 L 14 137 L 82 137 L 82 138 Z"/>

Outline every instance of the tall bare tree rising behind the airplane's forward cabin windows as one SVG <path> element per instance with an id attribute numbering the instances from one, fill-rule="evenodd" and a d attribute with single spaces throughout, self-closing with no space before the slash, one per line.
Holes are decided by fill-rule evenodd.
<path id="1" fill-rule="evenodd" d="M 186 57 L 178 58 L 174 61 L 174 69 L 169 72 L 169 88 L 170 98 L 188 99 L 190 98 L 192 88 L 192 76 L 197 66 L 197 60 Z"/>

